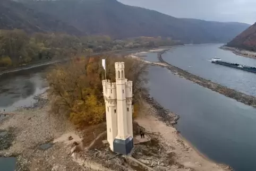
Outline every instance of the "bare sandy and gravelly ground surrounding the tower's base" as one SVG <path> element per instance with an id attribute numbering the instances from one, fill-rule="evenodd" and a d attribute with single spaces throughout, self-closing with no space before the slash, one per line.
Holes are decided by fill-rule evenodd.
<path id="1" fill-rule="evenodd" d="M 15 157 L 16 170 L 230 170 L 197 153 L 173 127 L 178 116 L 148 95 L 135 119 L 134 136 L 139 124 L 151 142 L 135 145 L 130 156 L 105 150 L 101 142 L 106 138 L 104 124 L 76 130 L 65 118 L 51 113 L 47 93 L 37 98 L 34 107 L 16 110 L 1 121 L 5 141 L 0 139 L 0 156 Z M 97 141 L 92 138 L 93 130 L 97 130 Z M 84 150 L 73 152 L 75 142 Z"/>

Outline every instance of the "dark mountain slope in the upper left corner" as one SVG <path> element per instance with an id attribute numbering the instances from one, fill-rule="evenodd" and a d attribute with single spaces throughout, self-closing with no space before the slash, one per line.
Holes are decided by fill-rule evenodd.
<path id="1" fill-rule="evenodd" d="M 78 29 L 49 14 L 37 12 L 22 3 L 0 1 L 0 29 L 23 29 L 27 32 L 69 32 L 81 33 Z"/>

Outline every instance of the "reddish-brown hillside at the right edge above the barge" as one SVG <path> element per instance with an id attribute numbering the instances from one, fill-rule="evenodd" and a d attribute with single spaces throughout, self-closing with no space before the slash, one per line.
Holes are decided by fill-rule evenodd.
<path id="1" fill-rule="evenodd" d="M 256 22 L 236 36 L 227 46 L 256 51 Z"/>

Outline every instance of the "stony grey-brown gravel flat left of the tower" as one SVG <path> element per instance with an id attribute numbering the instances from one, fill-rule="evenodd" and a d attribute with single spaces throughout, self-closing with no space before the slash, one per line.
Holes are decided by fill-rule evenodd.
<path id="1" fill-rule="evenodd" d="M 64 119 L 49 114 L 45 95 L 36 97 L 38 103 L 30 108 L 21 108 L 4 119 L 0 132 L 0 156 L 16 157 L 16 170 L 88 170 L 72 160 L 70 148 L 63 143 L 55 143 L 48 149 L 41 144 L 53 142 L 55 138 L 68 132 L 75 132 L 73 126 Z M 0 135 L 1 135 L 0 133 Z"/>

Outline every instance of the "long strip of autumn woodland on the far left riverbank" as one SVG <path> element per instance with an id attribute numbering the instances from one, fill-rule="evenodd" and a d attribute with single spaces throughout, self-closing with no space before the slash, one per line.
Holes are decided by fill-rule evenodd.
<path id="1" fill-rule="evenodd" d="M 0 30 L 0 70 L 56 58 L 88 55 L 92 52 L 179 45 L 161 37 L 113 40 L 109 36 L 80 36 L 65 33 L 33 33 Z"/>

